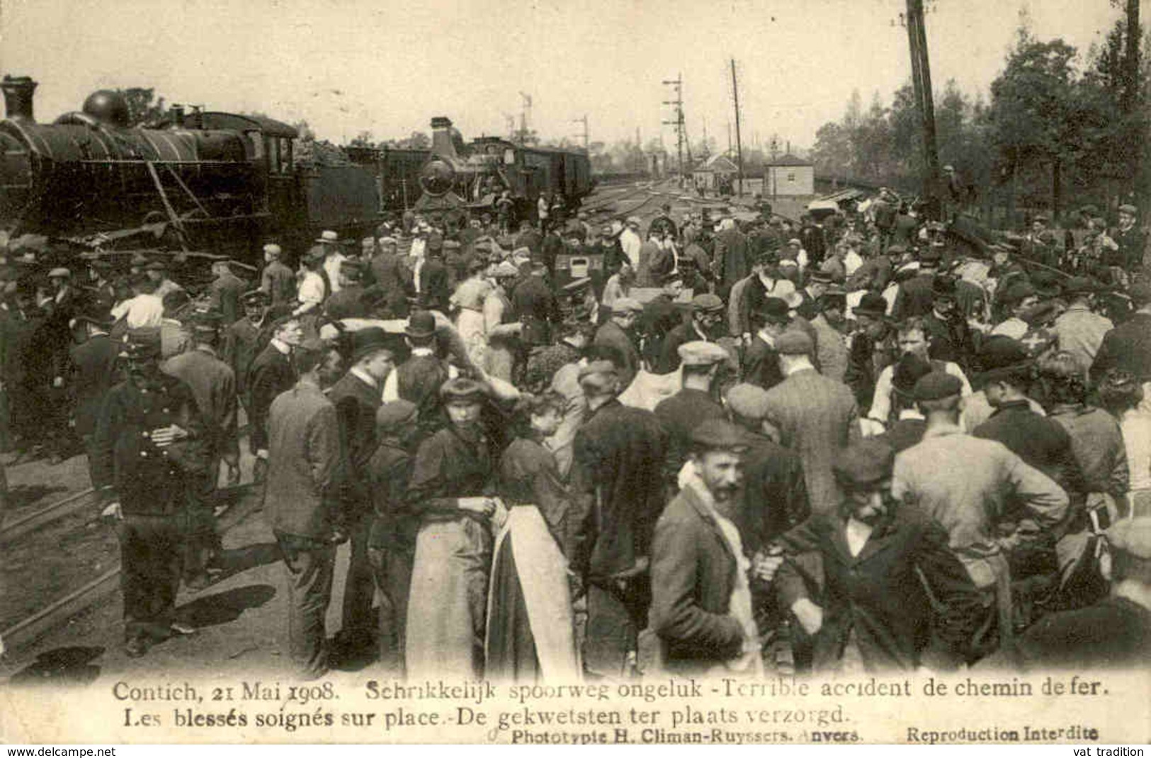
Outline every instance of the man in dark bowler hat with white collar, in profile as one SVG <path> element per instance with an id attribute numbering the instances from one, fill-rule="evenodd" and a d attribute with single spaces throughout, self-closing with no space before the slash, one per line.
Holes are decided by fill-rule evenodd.
<path id="1" fill-rule="evenodd" d="M 336 295 L 346 291 L 341 290 Z M 335 297 L 336 295 L 333 295 Z M 351 538 L 348 579 L 344 585 L 341 651 L 355 657 L 374 642 L 372 619 L 372 568 L 367 559 L 367 537 L 372 521 L 368 462 L 378 446 L 375 414 L 383 399 L 388 376 L 402 362 L 403 338 L 378 326 L 351 333 L 348 373 L 328 391 L 340 419 L 346 470 L 341 482 L 341 498 L 346 515 L 345 533 Z"/>

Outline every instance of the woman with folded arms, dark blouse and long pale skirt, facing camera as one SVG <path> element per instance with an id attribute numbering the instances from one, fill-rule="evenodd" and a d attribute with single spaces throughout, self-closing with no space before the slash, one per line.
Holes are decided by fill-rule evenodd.
<path id="1" fill-rule="evenodd" d="M 480 414 L 485 387 L 449 379 L 440 395 L 449 424 L 416 454 L 407 502 L 420 515 L 407 604 L 405 659 L 411 679 L 483 674 L 491 518 L 493 450 Z"/>

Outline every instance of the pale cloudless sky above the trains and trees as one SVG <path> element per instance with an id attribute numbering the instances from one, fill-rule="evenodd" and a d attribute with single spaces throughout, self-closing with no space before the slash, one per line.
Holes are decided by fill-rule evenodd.
<path id="1" fill-rule="evenodd" d="M 931 78 L 989 92 L 1026 8 L 1041 39 L 1081 54 L 1120 10 L 1108 0 L 928 0 Z M 345 142 L 430 131 L 506 134 L 520 93 L 541 137 L 609 144 L 662 136 L 672 151 L 681 75 L 687 136 L 727 145 L 735 59 L 742 142 L 809 147 L 853 90 L 885 103 L 910 79 L 904 0 L 0 0 L 0 73 L 40 83 L 36 115 L 100 88 L 306 120 Z M 1151 0 L 1142 16 L 1151 21 Z"/>

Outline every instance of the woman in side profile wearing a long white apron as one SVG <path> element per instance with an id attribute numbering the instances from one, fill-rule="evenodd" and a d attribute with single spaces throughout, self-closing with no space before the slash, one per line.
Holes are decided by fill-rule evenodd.
<path id="1" fill-rule="evenodd" d="M 488 679 L 564 682 L 580 675 L 565 558 L 570 499 L 543 446 L 564 404 L 558 393 L 528 400 L 531 430 L 500 461 L 496 487 L 510 510 L 491 562 Z"/>

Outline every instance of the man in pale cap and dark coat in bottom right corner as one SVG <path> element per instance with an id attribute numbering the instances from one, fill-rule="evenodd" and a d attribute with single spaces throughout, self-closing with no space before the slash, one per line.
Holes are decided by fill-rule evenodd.
<path id="1" fill-rule="evenodd" d="M 1145 670 L 1151 660 L 1151 518 L 1125 518 L 1107 530 L 1107 544 L 1106 599 L 1039 619 L 980 667 Z"/>

